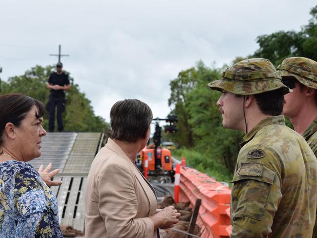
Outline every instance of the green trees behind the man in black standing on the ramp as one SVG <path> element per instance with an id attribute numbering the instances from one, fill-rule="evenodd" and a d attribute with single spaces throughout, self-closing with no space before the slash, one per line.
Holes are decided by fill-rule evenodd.
<path id="1" fill-rule="evenodd" d="M 21 93 L 44 103 L 48 102 L 49 89 L 47 79 L 54 66 L 37 65 L 21 76 L 14 76 L 0 84 L 0 94 Z M 66 72 L 67 73 L 67 72 Z M 79 91 L 79 85 L 69 77 L 71 89 L 66 92 L 66 111 L 63 113 L 65 131 L 103 132 L 109 129 L 109 124 L 101 117 L 95 116 L 91 102 Z M 43 126 L 48 128 L 48 112 L 43 116 Z M 56 126 L 57 128 L 57 126 Z"/>

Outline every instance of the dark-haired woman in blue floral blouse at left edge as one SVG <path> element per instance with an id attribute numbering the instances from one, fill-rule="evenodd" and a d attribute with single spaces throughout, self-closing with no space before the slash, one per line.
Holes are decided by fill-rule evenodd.
<path id="1" fill-rule="evenodd" d="M 40 157 L 43 104 L 0 96 L 0 237 L 62 238 L 57 199 L 27 161 Z"/>

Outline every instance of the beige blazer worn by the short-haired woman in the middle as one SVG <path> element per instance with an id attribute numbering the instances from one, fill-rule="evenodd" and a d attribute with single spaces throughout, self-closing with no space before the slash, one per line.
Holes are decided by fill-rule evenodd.
<path id="1" fill-rule="evenodd" d="M 86 238 L 157 238 L 157 200 L 143 175 L 112 139 L 98 152 L 87 178 Z"/>

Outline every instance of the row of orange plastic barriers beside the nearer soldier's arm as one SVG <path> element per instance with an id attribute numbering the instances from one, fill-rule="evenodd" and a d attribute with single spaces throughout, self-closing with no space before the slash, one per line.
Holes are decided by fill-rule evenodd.
<path id="1" fill-rule="evenodd" d="M 194 206 L 201 199 L 197 219 L 201 238 L 230 237 L 230 188 L 191 168 L 181 169 L 179 188 L 179 202 L 190 201 Z"/>

